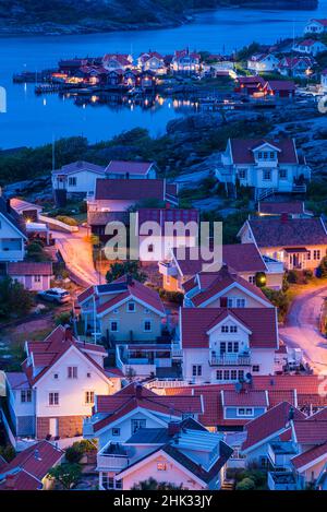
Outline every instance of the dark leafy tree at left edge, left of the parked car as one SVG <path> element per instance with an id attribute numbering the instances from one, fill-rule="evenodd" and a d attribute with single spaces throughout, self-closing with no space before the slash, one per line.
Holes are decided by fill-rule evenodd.
<path id="1" fill-rule="evenodd" d="M 27 314 L 33 306 L 33 295 L 17 281 L 7 276 L 0 279 L 0 318 Z"/>

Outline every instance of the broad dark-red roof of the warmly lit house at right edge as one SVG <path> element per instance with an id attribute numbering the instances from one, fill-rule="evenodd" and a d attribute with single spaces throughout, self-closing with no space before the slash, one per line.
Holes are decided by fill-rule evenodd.
<path id="1" fill-rule="evenodd" d="M 247 222 L 258 247 L 327 246 L 325 225 L 317 217 L 259 217 Z"/>

